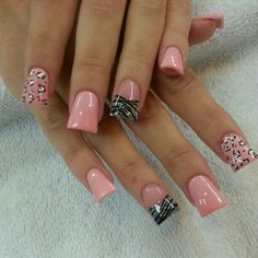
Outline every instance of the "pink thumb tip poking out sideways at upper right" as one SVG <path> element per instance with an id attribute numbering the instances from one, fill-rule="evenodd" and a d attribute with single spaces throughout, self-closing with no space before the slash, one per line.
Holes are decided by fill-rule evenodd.
<path id="1" fill-rule="evenodd" d="M 191 19 L 189 45 L 197 45 L 208 40 L 216 30 L 224 26 L 224 17 L 220 13 L 208 13 Z"/>

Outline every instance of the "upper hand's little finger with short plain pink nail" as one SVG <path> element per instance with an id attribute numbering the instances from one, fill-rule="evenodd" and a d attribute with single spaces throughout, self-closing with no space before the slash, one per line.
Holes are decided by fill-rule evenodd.
<path id="1" fill-rule="evenodd" d="M 189 48 L 189 0 L 167 1 L 166 26 L 160 47 L 159 66 L 168 77 L 184 73 Z"/>

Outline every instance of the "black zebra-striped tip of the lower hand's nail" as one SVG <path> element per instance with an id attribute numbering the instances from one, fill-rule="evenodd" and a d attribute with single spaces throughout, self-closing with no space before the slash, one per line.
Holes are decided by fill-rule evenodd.
<path id="1" fill-rule="evenodd" d="M 160 225 L 178 209 L 178 204 L 169 196 L 166 196 L 162 203 L 151 207 L 149 211 L 156 224 Z"/>

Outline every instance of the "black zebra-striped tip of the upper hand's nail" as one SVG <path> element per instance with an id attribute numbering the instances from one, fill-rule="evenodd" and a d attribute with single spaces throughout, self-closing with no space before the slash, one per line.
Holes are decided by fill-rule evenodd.
<path id="1" fill-rule="evenodd" d="M 128 101 L 120 95 L 116 95 L 112 103 L 110 116 L 137 121 L 138 109 L 139 101 Z"/>

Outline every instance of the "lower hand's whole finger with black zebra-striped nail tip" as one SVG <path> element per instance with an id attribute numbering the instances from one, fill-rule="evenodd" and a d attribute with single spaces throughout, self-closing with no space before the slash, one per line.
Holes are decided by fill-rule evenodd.
<path id="1" fill-rule="evenodd" d="M 157 224 L 178 209 L 167 187 L 136 151 L 117 120 L 106 114 L 98 133 L 86 133 L 86 138 Z"/>

